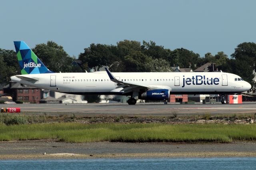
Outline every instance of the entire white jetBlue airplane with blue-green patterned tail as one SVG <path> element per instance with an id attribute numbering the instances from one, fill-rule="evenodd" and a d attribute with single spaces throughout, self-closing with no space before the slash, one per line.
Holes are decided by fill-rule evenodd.
<path id="1" fill-rule="evenodd" d="M 168 100 L 170 94 L 225 94 L 250 90 L 240 76 L 226 72 L 110 72 L 55 73 L 50 71 L 24 41 L 14 41 L 21 75 L 14 82 L 55 92 L 82 95 L 131 96 L 128 104 L 142 100 Z"/>

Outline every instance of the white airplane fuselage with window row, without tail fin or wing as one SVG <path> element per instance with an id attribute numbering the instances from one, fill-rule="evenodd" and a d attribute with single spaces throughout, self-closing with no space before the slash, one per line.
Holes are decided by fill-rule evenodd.
<path id="1" fill-rule="evenodd" d="M 226 72 L 113 72 L 117 80 L 170 90 L 170 94 L 234 94 L 251 88 L 239 76 Z M 123 94 L 105 71 L 92 73 L 46 73 L 12 76 L 11 80 L 68 94 Z M 239 78 L 239 79 L 238 79 Z"/>

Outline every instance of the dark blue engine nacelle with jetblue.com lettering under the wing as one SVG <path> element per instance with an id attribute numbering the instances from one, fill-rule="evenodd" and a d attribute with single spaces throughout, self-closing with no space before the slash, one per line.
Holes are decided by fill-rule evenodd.
<path id="1" fill-rule="evenodd" d="M 170 98 L 170 91 L 168 89 L 155 89 L 143 92 L 139 99 L 142 100 L 168 100 Z"/>

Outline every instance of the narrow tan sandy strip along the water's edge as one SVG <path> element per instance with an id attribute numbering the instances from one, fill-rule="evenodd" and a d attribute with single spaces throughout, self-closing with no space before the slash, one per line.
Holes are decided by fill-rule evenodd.
<path id="1" fill-rule="evenodd" d="M 120 159 L 120 158 L 209 158 L 255 157 L 255 152 L 181 152 L 181 153 L 110 153 L 110 154 L 2 154 L 0 160 L 36 159 Z"/>

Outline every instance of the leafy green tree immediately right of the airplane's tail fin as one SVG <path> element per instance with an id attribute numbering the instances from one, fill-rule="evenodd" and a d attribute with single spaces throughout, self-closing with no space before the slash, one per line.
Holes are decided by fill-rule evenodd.
<path id="1" fill-rule="evenodd" d="M 63 47 L 53 41 L 36 45 L 32 49 L 37 57 L 54 72 L 71 72 L 74 57 L 70 57 Z"/>

